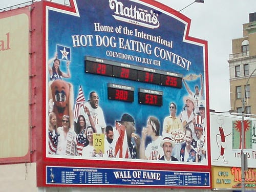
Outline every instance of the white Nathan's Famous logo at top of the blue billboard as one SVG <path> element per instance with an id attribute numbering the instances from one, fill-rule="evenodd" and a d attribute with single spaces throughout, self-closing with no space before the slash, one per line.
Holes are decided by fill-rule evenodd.
<path id="1" fill-rule="evenodd" d="M 113 17 L 117 20 L 152 29 L 159 27 L 158 14 L 153 10 L 148 13 L 147 10 L 137 9 L 136 6 L 133 7 L 131 5 L 130 8 L 124 7 L 123 4 L 117 0 L 109 0 L 109 5 L 110 8 L 115 11 Z"/>

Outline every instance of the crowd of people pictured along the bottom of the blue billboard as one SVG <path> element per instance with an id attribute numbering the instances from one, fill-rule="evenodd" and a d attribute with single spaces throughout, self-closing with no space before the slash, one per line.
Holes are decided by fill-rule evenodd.
<path id="1" fill-rule="evenodd" d="M 52 66 L 50 62 L 53 62 Z M 49 61 L 50 80 L 71 76 L 70 62 L 67 62 L 67 74 L 60 72 L 59 65 L 60 61 L 55 55 Z M 193 93 L 186 80 L 198 77 L 201 79 L 201 90 L 195 86 Z M 136 132 L 135 120 L 127 113 L 116 120 L 115 126 L 106 125 L 103 110 L 99 106 L 99 96 L 95 91 L 90 93 L 89 100 L 81 106 L 75 123 L 73 117 L 67 114 L 62 115 L 61 122 L 57 122 L 58 111 L 51 111 L 48 118 L 48 154 L 81 158 L 205 162 L 207 135 L 202 75 L 183 78 L 183 83 L 188 95 L 183 98 L 181 114 L 177 116 L 177 104 L 170 102 L 169 115 L 164 118 L 163 126 L 160 127 L 158 118 L 149 116 L 146 126 L 140 129 L 141 133 Z M 61 91 L 55 94 L 58 97 Z M 49 102 L 49 108 L 50 105 Z M 97 144 L 96 136 L 99 136 Z"/>

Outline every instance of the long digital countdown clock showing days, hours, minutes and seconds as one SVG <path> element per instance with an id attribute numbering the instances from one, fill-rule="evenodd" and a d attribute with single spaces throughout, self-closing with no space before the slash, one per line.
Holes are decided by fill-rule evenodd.
<path id="1" fill-rule="evenodd" d="M 86 56 L 85 72 L 140 82 L 159 84 L 166 87 L 182 88 L 182 74 L 134 66 Z"/>

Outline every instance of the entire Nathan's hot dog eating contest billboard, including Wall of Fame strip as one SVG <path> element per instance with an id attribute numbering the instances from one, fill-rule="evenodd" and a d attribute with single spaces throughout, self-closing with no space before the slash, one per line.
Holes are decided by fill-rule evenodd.
<path id="1" fill-rule="evenodd" d="M 156 1 L 70 2 L 46 3 L 38 185 L 210 188 L 207 42 L 190 19 Z"/>

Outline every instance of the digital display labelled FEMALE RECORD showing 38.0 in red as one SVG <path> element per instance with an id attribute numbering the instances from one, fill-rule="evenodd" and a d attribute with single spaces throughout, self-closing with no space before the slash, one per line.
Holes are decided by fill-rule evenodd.
<path id="1" fill-rule="evenodd" d="M 108 98 L 126 102 L 134 101 L 134 87 L 108 83 Z"/>

